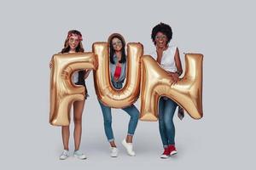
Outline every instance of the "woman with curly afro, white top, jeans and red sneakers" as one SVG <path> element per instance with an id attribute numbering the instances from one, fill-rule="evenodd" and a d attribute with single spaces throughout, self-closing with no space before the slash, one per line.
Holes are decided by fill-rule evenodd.
<path id="1" fill-rule="evenodd" d="M 156 50 L 151 54 L 160 66 L 166 70 L 173 83 L 176 83 L 178 77 L 183 73 L 179 52 L 176 46 L 169 46 L 172 39 L 172 28 L 169 25 L 160 23 L 154 26 L 151 33 L 152 41 Z M 177 154 L 175 147 L 175 127 L 173 115 L 177 104 L 166 97 L 161 97 L 159 101 L 159 128 L 160 137 L 164 146 L 164 153 L 161 158 L 167 158 Z M 183 118 L 183 109 L 179 109 L 178 116 Z"/>

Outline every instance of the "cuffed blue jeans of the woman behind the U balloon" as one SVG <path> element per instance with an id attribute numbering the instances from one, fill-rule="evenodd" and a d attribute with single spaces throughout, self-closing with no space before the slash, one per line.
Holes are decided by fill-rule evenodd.
<path id="1" fill-rule="evenodd" d="M 99 100 L 99 103 L 102 108 L 102 114 L 104 119 L 104 130 L 105 134 L 108 138 L 108 142 L 111 142 L 114 140 L 113 138 L 113 130 L 112 130 L 112 115 L 111 115 L 111 108 L 103 105 L 102 102 Z M 128 107 L 123 108 L 126 113 L 128 113 L 131 118 L 128 125 L 128 135 L 133 136 L 135 129 L 137 127 L 138 117 L 139 117 L 139 111 L 137 110 L 135 105 L 130 105 Z"/>

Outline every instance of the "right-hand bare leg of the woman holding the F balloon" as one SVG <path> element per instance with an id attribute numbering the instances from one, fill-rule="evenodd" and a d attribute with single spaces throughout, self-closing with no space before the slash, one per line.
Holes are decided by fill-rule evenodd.
<path id="1" fill-rule="evenodd" d="M 74 122 L 74 144 L 75 150 L 79 150 L 81 135 L 82 135 L 82 115 L 84 111 L 84 103 L 83 101 L 75 101 L 73 102 L 73 122 Z"/>

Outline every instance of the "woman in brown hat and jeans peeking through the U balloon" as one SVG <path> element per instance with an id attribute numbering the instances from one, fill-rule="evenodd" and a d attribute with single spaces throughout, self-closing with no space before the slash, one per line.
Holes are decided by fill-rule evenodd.
<path id="1" fill-rule="evenodd" d="M 126 55 L 125 55 L 125 39 L 120 34 L 114 33 L 108 38 L 108 46 L 110 52 L 110 74 L 111 82 L 113 88 L 120 89 L 123 88 L 123 82 L 125 81 L 126 76 Z M 107 136 L 108 142 L 110 144 L 111 157 L 117 157 L 119 150 L 114 142 L 113 138 L 113 129 L 112 129 L 112 115 L 111 108 L 103 105 L 99 100 L 99 103 L 102 108 L 103 120 L 104 120 L 104 130 Z M 128 133 L 126 138 L 122 141 L 122 144 L 125 146 L 125 149 L 129 156 L 135 156 L 135 152 L 132 148 L 132 138 L 135 133 L 139 111 L 135 105 L 130 105 L 123 108 L 131 118 L 128 125 Z"/>

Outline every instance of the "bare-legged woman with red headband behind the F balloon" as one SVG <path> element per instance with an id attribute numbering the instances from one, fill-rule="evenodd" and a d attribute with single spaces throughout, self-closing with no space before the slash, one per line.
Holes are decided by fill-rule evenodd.
<path id="1" fill-rule="evenodd" d="M 67 38 L 64 43 L 64 48 L 61 50 L 61 54 L 72 54 L 72 53 L 83 53 L 84 48 L 82 44 L 82 34 L 79 31 L 71 30 L 67 33 Z M 50 62 L 49 67 L 52 66 Z M 72 76 L 73 83 L 76 85 L 82 85 L 85 88 L 85 98 L 83 101 L 73 102 L 73 122 L 74 122 L 74 145 L 75 149 L 73 156 L 78 157 L 79 159 L 86 159 L 86 156 L 79 150 L 81 135 L 82 135 L 82 114 L 84 110 L 85 99 L 87 98 L 87 89 L 85 86 L 84 79 L 89 76 L 90 71 L 75 71 Z M 64 150 L 61 153 L 60 159 L 65 160 L 69 156 L 68 141 L 69 141 L 69 126 L 61 127 L 62 142 Z"/>

